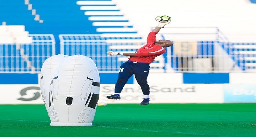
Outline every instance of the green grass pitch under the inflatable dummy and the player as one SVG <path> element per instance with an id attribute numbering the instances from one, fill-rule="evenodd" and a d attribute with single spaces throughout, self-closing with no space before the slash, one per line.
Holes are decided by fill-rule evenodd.
<path id="1" fill-rule="evenodd" d="M 0 111 L 0 137 L 256 137 L 256 104 L 108 104 L 83 127 L 50 126 L 44 105 Z"/>

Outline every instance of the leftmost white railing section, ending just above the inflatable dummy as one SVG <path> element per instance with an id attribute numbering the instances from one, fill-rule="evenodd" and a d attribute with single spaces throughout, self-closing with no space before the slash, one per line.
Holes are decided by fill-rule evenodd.
<path id="1" fill-rule="evenodd" d="M 29 35 L 31 43 L 0 44 L 1 73 L 38 73 L 43 62 L 55 55 L 53 35 Z"/>

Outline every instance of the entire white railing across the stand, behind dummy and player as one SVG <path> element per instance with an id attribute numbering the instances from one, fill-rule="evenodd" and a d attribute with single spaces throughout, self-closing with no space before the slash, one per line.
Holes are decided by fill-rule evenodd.
<path id="1" fill-rule="evenodd" d="M 202 30 L 201 30 L 202 29 Z M 153 72 L 254 72 L 255 43 L 231 43 L 216 27 L 166 27 L 157 39 L 173 40 L 174 46 L 151 64 Z M 207 30 L 207 31 L 205 31 Z M 0 44 L 0 72 L 39 73 L 43 62 L 55 55 L 53 35 L 29 35 L 30 44 Z M 106 51 L 134 52 L 145 44 L 134 34 L 59 35 L 61 54 L 85 55 L 100 72 L 118 72 L 126 56 L 107 56 Z"/>

